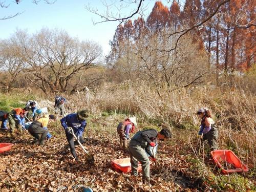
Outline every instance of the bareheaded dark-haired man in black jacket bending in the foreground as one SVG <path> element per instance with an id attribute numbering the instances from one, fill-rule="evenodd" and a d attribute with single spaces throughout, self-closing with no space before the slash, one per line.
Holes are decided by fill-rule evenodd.
<path id="1" fill-rule="evenodd" d="M 156 146 L 157 140 L 172 138 L 169 129 L 162 129 L 157 132 L 154 129 L 137 132 L 130 141 L 129 150 L 132 164 L 132 175 L 138 176 L 138 162 L 142 165 L 142 181 L 150 185 L 150 159 L 147 154 L 151 156 L 152 161 L 156 161 L 154 154 L 148 152 L 149 147 Z M 147 152 L 146 152 L 147 151 Z"/>

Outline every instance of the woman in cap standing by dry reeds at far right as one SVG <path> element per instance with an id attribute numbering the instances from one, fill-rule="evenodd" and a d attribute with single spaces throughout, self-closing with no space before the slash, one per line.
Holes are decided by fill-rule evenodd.
<path id="1" fill-rule="evenodd" d="M 197 111 L 197 115 L 201 118 L 201 125 L 200 125 L 200 130 L 198 132 L 198 135 L 203 135 L 202 136 L 203 139 L 201 139 L 200 142 L 207 140 L 210 146 L 210 150 L 211 151 L 217 150 L 218 149 L 217 140 L 219 137 L 219 133 L 214 120 L 212 120 L 212 115 L 210 110 L 206 108 L 200 108 Z"/>

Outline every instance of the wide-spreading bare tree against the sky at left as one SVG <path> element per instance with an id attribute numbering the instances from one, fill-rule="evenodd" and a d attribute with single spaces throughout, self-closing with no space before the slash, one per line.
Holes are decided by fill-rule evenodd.
<path id="1" fill-rule="evenodd" d="M 91 41 L 79 41 L 67 32 L 42 29 L 23 46 L 27 63 L 26 79 L 46 94 L 72 89 L 70 80 L 79 72 L 94 67 L 101 47 Z"/>

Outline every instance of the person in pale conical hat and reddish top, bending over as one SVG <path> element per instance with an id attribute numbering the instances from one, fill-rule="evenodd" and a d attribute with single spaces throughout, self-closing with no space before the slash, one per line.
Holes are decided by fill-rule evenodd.
<path id="1" fill-rule="evenodd" d="M 123 151 L 127 151 L 127 140 L 130 139 L 130 133 L 135 133 L 137 126 L 136 117 L 129 117 L 117 125 L 117 133 L 120 137 L 120 145 L 123 145 Z"/>

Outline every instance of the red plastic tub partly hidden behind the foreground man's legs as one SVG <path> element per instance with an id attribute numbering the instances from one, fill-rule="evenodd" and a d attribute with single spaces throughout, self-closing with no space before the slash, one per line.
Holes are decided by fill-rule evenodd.
<path id="1" fill-rule="evenodd" d="M 124 158 L 124 159 L 115 159 L 111 161 L 111 167 L 114 168 L 117 171 L 123 172 L 123 173 L 129 173 L 132 171 L 130 158 Z M 141 164 L 138 164 L 137 168 L 138 172 L 141 172 Z"/>

